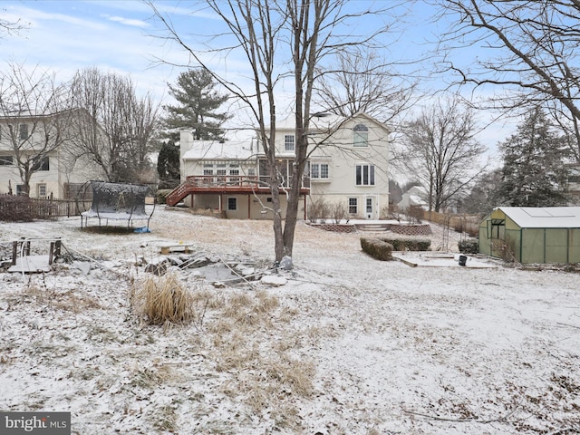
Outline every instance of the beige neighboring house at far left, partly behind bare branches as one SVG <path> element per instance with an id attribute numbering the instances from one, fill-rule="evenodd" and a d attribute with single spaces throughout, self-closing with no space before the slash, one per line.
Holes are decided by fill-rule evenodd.
<path id="1" fill-rule="evenodd" d="M 76 118 L 71 122 L 63 117 Z M 103 179 L 102 170 L 86 158 L 75 157 L 73 141 L 66 140 L 73 136 L 71 126 L 78 126 L 79 120 L 82 111 L 0 116 L 0 194 L 20 194 L 23 190 L 17 153 L 21 160 L 43 156 L 30 179 L 31 198 L 75 198 L 86 181 Z"/>

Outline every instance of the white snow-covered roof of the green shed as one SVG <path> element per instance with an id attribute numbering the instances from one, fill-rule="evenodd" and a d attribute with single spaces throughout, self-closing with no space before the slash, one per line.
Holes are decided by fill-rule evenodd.
<path id="1" fill-rule="evenodd" d="M 498 207 L 522 228 L 578 228 L 580 207 Z"/>

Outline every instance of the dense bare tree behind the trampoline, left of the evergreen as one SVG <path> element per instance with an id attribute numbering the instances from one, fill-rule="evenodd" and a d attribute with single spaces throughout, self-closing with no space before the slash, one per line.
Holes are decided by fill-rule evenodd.
<path id="1" fill-rule="evenodd" d="M 71 84 L 71 102 L 86 111 L 76 125 L 73 149 L 102 168 L 109 181 L 138 182 L 151 167 L 152 145 L 159 105 L 150 95 L 138 97 L 131 78 L 79 71 Z"/>

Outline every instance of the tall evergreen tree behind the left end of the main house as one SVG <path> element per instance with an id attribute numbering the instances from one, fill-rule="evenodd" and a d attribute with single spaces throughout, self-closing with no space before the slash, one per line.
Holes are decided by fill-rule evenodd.
<path id="1" fill-rule="evenodd" d="M 216 85 L 205 68 L 180 73 L 176 85 L 168 83 L 169 94 L 178 104 L 163 106 L 167 113 L 162 119 L 166 131 L 163 137 L 177 142 L 179 131 L 189 129 L 195 131 L 197 140 L 222 139 L 224 131 L 220 127 L 230 117 L 217 110 L 229 96 L 216 91 Z"/>

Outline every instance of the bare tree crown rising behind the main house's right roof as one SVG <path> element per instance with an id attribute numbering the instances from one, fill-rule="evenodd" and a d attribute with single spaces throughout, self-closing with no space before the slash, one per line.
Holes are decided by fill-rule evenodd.
<path id="1" fill-rule="evenodd" d="M 376 50 L 342 47 L 336 64 L 319 72 L 316 102 L 324 111 L 344 117 L 366 113 L 393 128 L 396 119 L 414 103 L 417 82 L 395 72 L 395 65 Z M 412 80 L 412 79 L 411 79 Z"/>

